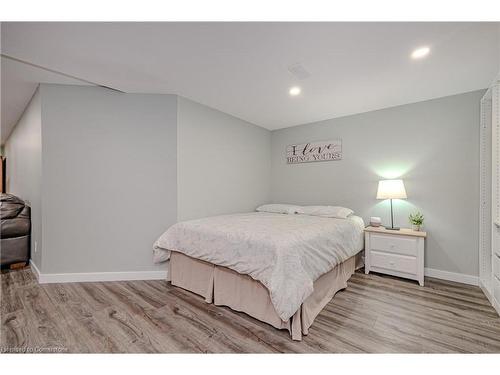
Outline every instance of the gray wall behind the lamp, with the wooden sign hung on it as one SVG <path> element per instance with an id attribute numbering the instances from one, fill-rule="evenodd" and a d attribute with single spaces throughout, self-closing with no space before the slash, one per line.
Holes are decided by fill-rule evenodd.
<path id="1" fill-rule="evenodd" d="M 272 200 L 337 204 L 388 223 L 379 179 L 402 178 L 408 200 L 395 221 L 425 215 L 426 267 L 478 274 L 479 100 L 475 91 L 277 130 L 272 133 Z M 334 104 L 332 104 L 334 105 Z M 343 160 L 285 163 L 288 144 L 342 138 Z"/>

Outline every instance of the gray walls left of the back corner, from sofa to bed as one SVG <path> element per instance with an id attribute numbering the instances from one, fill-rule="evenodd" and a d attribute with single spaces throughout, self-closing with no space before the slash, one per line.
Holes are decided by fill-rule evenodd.
<path id="1" fill-rule="evenodd" d="M 42 84 L 5 151 L 44 274 L 165 269 L 151 247 L 177 218 L 270 200 L 271 133 L 174 95 Z"/>

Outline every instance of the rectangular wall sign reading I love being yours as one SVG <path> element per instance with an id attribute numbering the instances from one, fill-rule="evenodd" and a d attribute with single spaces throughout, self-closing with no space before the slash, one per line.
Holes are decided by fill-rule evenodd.
<path id="1" fill-rule="evenodd" d="M 311 163 L 342 159 L 342 140 L 308 142 L 286 147 L 287 164 Z"/>

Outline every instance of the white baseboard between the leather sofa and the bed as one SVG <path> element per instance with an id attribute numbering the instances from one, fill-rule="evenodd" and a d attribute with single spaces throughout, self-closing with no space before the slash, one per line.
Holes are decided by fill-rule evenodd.
<path id="1" fill-rule="evenodd" d="M 30 265 L 40 284 L 78 283 L 94 281 L 127 281 L 127 280 L 167 280 L 167 270 L 163 271 L 130 271 L 130 272 L 85 272 L 85 273 L 41 273 L 30 260 Z"/>

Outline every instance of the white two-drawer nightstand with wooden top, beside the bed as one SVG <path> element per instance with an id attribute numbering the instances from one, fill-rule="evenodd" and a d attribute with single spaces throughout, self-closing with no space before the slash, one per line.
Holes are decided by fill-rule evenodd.
<path id="1" fill-rule="evenodd" d="M 417 280 L 424 286 L 425 232 L 365 228 L 365 273 L 380 272 Z"/>

